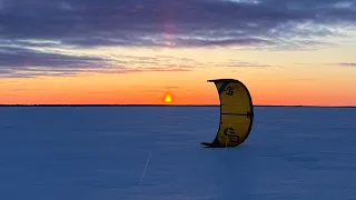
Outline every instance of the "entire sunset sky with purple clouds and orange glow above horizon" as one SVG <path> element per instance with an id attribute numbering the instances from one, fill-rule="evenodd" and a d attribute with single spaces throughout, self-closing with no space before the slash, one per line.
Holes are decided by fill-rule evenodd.
<path id="1" fill-rule="evenodd" d="M 0 0 L 0 103 L 356 106 L 355 0 Z"/>

